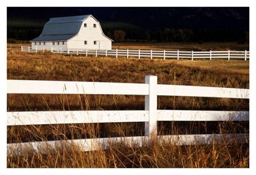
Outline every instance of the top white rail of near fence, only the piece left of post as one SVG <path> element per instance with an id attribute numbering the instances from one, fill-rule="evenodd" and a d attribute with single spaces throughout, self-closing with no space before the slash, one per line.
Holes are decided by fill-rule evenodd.
<path id="1" fill-rule="evenodd" d="M 147 95 L 148 84 L 7 80 L 7 93 Z M 104 88 L 102 88 L 104 87 Z"/>

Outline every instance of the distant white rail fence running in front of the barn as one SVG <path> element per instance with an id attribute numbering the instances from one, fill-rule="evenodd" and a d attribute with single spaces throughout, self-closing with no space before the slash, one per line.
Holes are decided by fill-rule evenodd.
<path id="1" fill-rule="evenodd" d="M 32 50 L 32 47 L 21 46 L 22 51 L 38 52 L 37 47 Z M 45 51 L 45 49 L 43 49 Z M 75 54 L 75 55 L 95 55 L 97 56 L 115 56 L 118 57 L 138 57 L 141 58 L 163 58 L 163 59 L 243 59 L 247 60 L 250 57 L 249 51 L 167 51 L 167 50 L 87 50 L 78 48 L 62 48 L 51 47 L 51 52 L 59 54 Z"/>

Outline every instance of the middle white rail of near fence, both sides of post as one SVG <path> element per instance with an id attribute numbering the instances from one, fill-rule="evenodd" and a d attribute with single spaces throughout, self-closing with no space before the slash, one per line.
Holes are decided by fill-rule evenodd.
<path id="1" fill-rule="evenodd" d="M 64 117 L 65 116 L 65 117 Z M 248 111 L 157 110 L 158 121 L 249 121 Z M 149 121 L 148 111 L 7 112 L 7 126 Z"/>

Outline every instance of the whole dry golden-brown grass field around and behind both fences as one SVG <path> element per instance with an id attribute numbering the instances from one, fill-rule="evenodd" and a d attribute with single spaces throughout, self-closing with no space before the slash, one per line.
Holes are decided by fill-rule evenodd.
<path id="1" fill-rule="evenodd" d="M 157 75 L 158 84 L 249 88 L 249 61 L 162 60 L 21 52 L 7 48 L 7 79 L 84 82 L 145 83 L 145 75 Z M 186 44 L 185 44 L 186 45 Z M 159 46 L 159 47 L 158 47 Z M 151 49 L 170 48 L 164 44 Z M 142 45 L 115 48 L 141 48 Z M 145 46 L 145 49 L 149 47 Z M 207 47 L 207 46 L 205 46 Z M 221 47 L 221 46 L 216 46 Z M 223 46 L 224 49 L 226 46 Z M 174 47 L 172 47 L 174 48 Z M 184 46 L 186 48 L 186 46 Z M 190 50 L 191 46 L 187 46 Z M 177 48 L 181 50 L 181 46 Z M 209 49 L 203 48 L 204 49 Z M 231 47 L 230 47 L 231 49 Z M 143 110 L 144 96 L 8 94 L 7 111 Z M 249 100 L 206 97 L 158 97 L 158 109 L 249 111 Z M 58 124 L 7 127 L 7 143 L 141 136 L 143 123 Z M 249 133 L 246 122 L 158 122 L 158 134 Z M 213 143 L 177 146 L 151 141 L 130 147 L 125 143 L 107 150 L 81 152 L 74 145 L 46 154 L 7 156 L 8 168 L 249 168 L 247 143 Z"/>

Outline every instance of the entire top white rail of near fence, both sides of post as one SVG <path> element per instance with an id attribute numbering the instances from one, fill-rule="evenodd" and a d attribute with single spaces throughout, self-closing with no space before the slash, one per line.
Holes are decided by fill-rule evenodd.
<path id="1" fill-rule="evenodd" d="M 56 82 L 7 80 L 7 93 L 148 95 L 149 85 L 140 83 Z M 102 88 L 104 87 L 104 88 Z M 159 96 L 249 98 L 249 89 L 181 85 L 157 85 Z"/>

